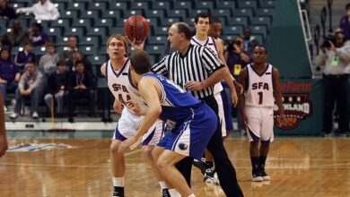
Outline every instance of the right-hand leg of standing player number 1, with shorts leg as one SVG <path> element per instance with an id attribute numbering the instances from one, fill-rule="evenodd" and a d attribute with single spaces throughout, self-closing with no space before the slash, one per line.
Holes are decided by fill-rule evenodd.
<path id="1" fill-rule="evenodd" d="M 270 142 L 274 141 L 274 110 L 269 107 L 261 107 L 260 111 L 263 116 L 261 122 L 261 145 L 258 157 L 258 168 L 263 180 L 269 181 L 270 176 L 265 172 L 265 163 L 268 151 L 270 150 Z"/>

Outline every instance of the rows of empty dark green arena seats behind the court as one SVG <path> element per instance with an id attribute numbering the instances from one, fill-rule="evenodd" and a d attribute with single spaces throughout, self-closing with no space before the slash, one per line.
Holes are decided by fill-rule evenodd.
<path id="1" fill-rule="evenodd" d="M 101 77 L 100 66 L 108 59 L 106 41 L 111 34 L 124 33 L 124 21 L 134 14 L 144 15 L 150 22 L 150 34 L 145 50 L 151 62 L 156 63 L 171 48 L 167 41 L 168 30 L 173 22 L 185 21 L 193 28 L 197 13 L 213 14 L 223 21 L 222 39 L 231 41 L 250 27 L 252 35 L 263 44 L 268 39 L 268 30 L 273 21 L 276 0 L 52 0 L 60 11 L 57 21 L 39 21 L 50 40 L 57 45 L 57 52 L 67 46 L 67 38 L 76 35 L 79 49 L 94 66 L 94 73 Z M 14 8 L 33 4 L 30 0 L 16 0 Z M 33 16 L 21 14 L 19 20 L 23 28 L 34 22 Z M 0 34 L 11 29 L 12 21 L 0 19 Z M 12 48 L 12 57 L 22 49 Z M 45 48 L 44 48 L 45 49 Z M 37 58 L 46 53 L 41 47 L 34 49 Z"/>

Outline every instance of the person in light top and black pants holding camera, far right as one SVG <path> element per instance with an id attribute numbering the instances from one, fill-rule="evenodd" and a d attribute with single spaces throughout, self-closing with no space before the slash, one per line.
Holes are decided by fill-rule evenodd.
<path id="1" fill-rule="evenodd" d="M 346 69 L 350 64 L 350 42 L 344 45 L 344 34 L 337 31 L 336 37 L 328 37 L 316 57 L 316 65 L 324 65 L 323 87 L 323 136 L 327 137 L 333 129 L 333 109 L 337 103 L 339 122 L 337 133 L 347 136 L 349 132 L 349 75 Z"/>

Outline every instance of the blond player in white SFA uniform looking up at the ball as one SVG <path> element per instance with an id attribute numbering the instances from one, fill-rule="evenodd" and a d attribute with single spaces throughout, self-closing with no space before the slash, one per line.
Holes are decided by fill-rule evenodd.
<path id="1" fill-rule="evenodd" d="M 113 141 L 110 145 L 111 168 L 113 174 L 114 193 L 113 196 L 124 196 L 124 176 L 125 158 L 124 152 L 117 151 L 118 144 L 135 135 L 136 129 L 144 119 L 144 116 L 135 114 L 128 109 L 126 102 L 134 99 L 139 102 L 140 107 L 145 107 L 142 103 L 136 85 L 131 82 L 130 61 L 127 58 L 127 39 L 120 34 L 110 36 L 107 41 L 107 53 L 109 61 L 101 66 L 101 73 L 107 78 L 109 90 L 115 97 L 114 109 L 121 114 L 115 130 Z M 162 178 L 153 162 L 152 150 L 162 137 L 162 121 L 155 124 L 145 133 L 142 138 L 144 155 L 153 169 L 153 173 L 159 180 L 163 196 L 170 196 L 167 186 L 162 182 Z M 137 144 L 135 144 L 137 145 Z"/>

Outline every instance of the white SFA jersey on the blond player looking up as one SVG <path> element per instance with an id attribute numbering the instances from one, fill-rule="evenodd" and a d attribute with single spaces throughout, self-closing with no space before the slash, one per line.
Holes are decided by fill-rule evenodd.
<path id="1" fill-rule="evenodd" d="M 126 105 L 127 100 L 133 99 L 140 108 L 146 107 L 136 85 L 131 80 L 130 60 L 128 58 L 118 71 L 113 69 L 109 60 L 106 64 L 106 76 L 110 92 L 123 106 Z M 127 110 L 129 109 L 127 108 Z M 129 111 L 133 113 L 131 110 Z"/>

